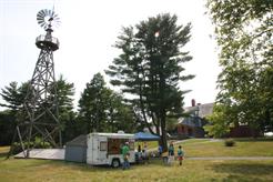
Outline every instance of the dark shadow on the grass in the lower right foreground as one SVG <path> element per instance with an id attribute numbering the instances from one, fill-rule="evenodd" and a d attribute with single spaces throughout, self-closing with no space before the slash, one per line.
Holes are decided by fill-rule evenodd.
<path id="1" fill-rule="evenodd" d="M 220 173 L 231 173 L 231 174 L 253 174 L 253 175 L 267 175 L 272 174 L 272 164 L 256 164 L 256 163 L 222 163 L 213 165 L 213 170 Z"/>

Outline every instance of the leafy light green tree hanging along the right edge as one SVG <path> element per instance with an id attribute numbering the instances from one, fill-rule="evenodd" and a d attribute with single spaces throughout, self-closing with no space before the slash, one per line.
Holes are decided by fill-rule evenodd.
<path id="1" fill-rule="evenodd" d="M 214 122 L 221 124 L 226 119 L 226 128 L 246 123 L 272 131 L 272 75 L 267 74 L 273 68 L 272 1 L 208 0 L 206 6 L 215 26 L 222 67 Z M 228 118 L 220 118 L 219 112 Z"/>

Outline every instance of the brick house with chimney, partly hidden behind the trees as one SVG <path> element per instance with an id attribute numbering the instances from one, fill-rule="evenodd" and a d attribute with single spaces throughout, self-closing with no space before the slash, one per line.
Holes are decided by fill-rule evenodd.
<path id="1" fill-rule="evenodd" d="M 204 138 L 205 131 L 203 127 L 208 123 L 205 117 L 212 114 L 213 103 L 205 103 L 195 105 L 195 101 L 192 100 L 192 107 L 184 109 L 189 117 L 180 118 L 175 131 L 175 134 L 180 138 Z"/>

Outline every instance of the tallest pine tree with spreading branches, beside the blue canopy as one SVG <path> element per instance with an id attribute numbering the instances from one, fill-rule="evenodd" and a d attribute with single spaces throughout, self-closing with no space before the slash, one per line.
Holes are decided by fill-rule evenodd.
<path id="1" fill-rule="evenodd" d="M 135 28 L 123 28 L 115 44 L 122 53 L 105 71 L 113 85 L 131 95 L 128 98 L 135 114 L 141 113 L 150 132 L 155 127 L 164 150 L 166 118 L 182 114 L 185 91 L 179 89 L 179 83 L 193 78 L 182 75 L 182 63 L 192 57 L 181 50 L 190 40 L 191 24 L 176 26 L 176 16 L 165 13 L 141 21 Z"/>

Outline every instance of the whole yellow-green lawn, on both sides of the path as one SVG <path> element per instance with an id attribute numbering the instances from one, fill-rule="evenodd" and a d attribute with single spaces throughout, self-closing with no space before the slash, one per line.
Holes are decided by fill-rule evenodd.
<path id="1" fill-rule="evenodd" d="M 233 148 L 223 141 L 188 140 L 182 143 L 186 156 L 266 155 L 272 156 L 273 141 L 237 140 Z M 150 146 L 150 143 L 148 144 Z M 260 146 L 261 145 L 261 146 Z M 153 144 L 151 145 L 153 146 Z M 273 181 L 273 160 L 223 161 L 184 160 L 179 166 L 163 165 L 161 160 L 132 165 L 130 170 L 90 166 L 81 163 L 50 160 L 4 160 L 9 148 L 0 148 L 0 181 Z M 201 152 L 199 150 L 202 150 Z M 254 152 L 254 151 L 256 152 Z"/>

